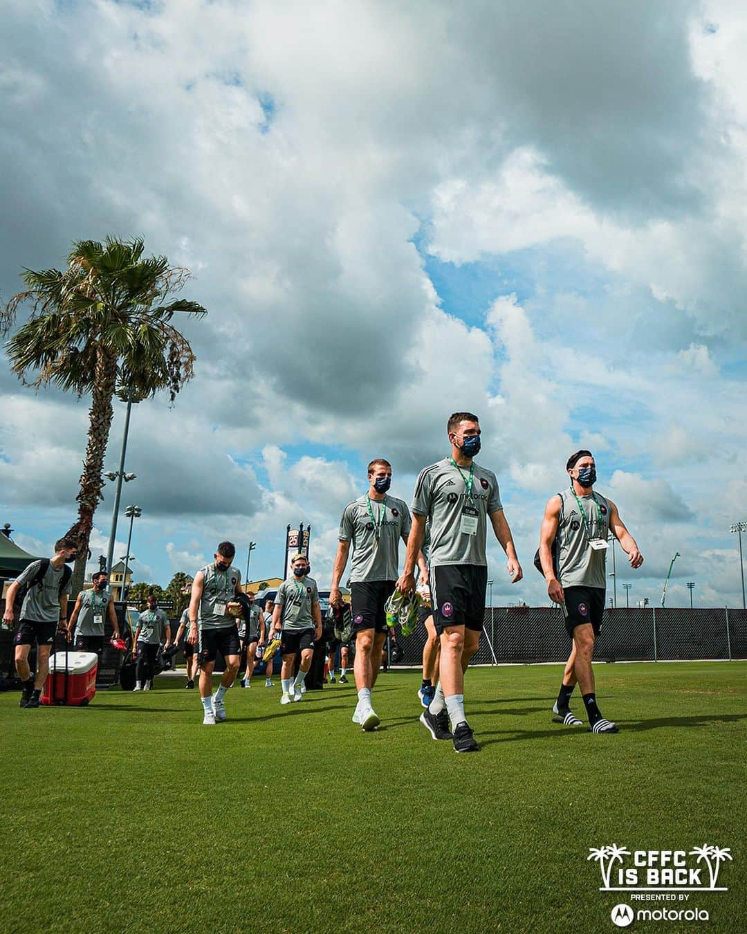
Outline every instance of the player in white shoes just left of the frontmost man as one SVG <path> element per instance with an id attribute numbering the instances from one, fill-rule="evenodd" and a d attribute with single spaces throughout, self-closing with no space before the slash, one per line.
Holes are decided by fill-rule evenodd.
<path id="1" fill-rule="evenodd" d="M 340 580 L 353 545 L 350 571 L 351 612 L 356 639 L 353 671 L 358 704 L 353 723 L 362 729 L 376 729 L 381 722 L 373 710 L 371 692 L 376 684 L 381 653 L 387 641 L 387 613 L 384 605 L 394 592 L 400 563 L 400 539 L 407 541 L 411 518 L 407 504 L 387 491 L 391 486 L 391 464 L 376 458 L 368 465 L 368 490 L 348 502 L 340 519 L 337 554 L 332 567 L 330 603 L 342 607 Z M 425 569 L 422 554 L 418 562 Z"/>

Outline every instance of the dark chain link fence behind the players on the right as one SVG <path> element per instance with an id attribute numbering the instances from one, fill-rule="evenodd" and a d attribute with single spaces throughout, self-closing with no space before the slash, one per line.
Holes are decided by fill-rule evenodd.
<path id="1" fill-rule="evenodd" d="M 419 666 L 425 627 L 399 636 L 401 665 Z M 565 661 L 571 640 L 555 607 L 494 606 L 472 664 Z M 646 607 L 607 609 L 594 652 L 597 661 L 747 658 L 747 610 Z"/>

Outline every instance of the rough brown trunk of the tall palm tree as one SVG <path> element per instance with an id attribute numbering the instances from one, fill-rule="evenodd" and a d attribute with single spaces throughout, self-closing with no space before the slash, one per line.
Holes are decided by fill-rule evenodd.
<path id="1" fill-rule="evenodd" d="M 73 572 L 73 600 L 83 589 L 88 560 L 88 542 L 93 528 L 93 514 L 96 506 L 104 499 L 101 489 L 104 486 L 104 458 L 109 440 L 111 419 L 114 415 L 112 397 L 117 382 L 117 359 L 104 349 L 99 349 L 96 360 L 96 378 L 91 394 L 89 409 L 88 445 L 83 461 L 83 473 L 80 474 L 78 490 L 78 522 L 68 532 L 78 538 L 78 560 Z"/>

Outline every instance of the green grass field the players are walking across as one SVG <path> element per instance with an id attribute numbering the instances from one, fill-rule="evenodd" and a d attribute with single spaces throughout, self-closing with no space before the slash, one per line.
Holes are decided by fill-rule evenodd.
<path id="1" fill-rule="evenodd" d="M 352 685 L 236 686 L 212 728 L 182 678 L 2 694 L 0 930 L 612 931 L 587 856 L 613 842 L 730 847 L 729 891 L 690 904 L 745 929 L 747 663 L 598 666 L 616 736 L 551 723 L 561 671 L 471 670 L 467 756 L 417 722 L 417 672 L 380 676 L 375 733 Z"/>

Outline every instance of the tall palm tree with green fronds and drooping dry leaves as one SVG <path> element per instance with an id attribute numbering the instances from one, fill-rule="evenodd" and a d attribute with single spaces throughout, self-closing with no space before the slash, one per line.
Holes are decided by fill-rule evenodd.
<path id="1" fill-rule="evenodd" d="M 13 372 L 25 386 L 50 383 L 78 397 L 91 394 L 88 445 L 78 489 L 78 539 L 73 595 L 83 585 L 115 393 L 139 401 L 166 389 L 171 402 L 193 374 L 190 342 L 171 324 L 176 312 L 202 317 L 204 307 L 168 301 L 190 276 L 165 256 L 144 257 L 141 239 L 107 237 L 73 244 L 67 269 L 25 269 L 27 288 L 0 310 L 7 333 L 22 304 L 31 314 L 7 342 Z M 27 375 L 33 373 L 33 378 Z"/>

